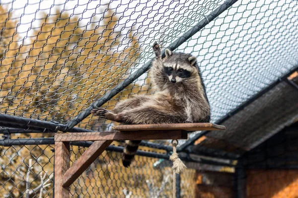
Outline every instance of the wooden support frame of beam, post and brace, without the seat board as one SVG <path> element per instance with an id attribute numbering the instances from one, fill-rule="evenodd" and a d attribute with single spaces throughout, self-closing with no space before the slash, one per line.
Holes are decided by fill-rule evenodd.
<path id="1" fill-rule="evenodd" d="M 182 130 L 76 132 L 55 134 L 55 198 L 68 198 L 69 188 L 113 140 L 187 139 Z M 70 141 L 94 141 L 70 167 Z"/>

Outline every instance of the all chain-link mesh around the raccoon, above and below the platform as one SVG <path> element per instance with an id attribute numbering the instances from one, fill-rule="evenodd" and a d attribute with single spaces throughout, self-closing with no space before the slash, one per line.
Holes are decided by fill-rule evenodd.
<path id="1" fill-rule="evenodd" d="M 297 4 L 1 0 L 0 197 L 53 197 L 53 129 L 111 131 L 117 123 L 92 117 L 86 109 L 94 101 L 95 106 L 113 109 L 119 100 L 153 93 L 148 76 L 153 41 L 197 57 L 212 122 L 220 121 L 298 68 Z M 8 122 L 4 115 L 30 120 Z M 54 127 L 32 126 L 36 120 Z M 71 149 L 74 161 L 85 147 Z M 167 160 L 137 156 L 132 167 L 124 169 L 120 155 L 105 151 L 72 185 L 72 196 L 170 197 L 172 174 L 163 165 Z M 194 197 L 197 176 L 192 168 L 181 174 L 181 197 Z"/>

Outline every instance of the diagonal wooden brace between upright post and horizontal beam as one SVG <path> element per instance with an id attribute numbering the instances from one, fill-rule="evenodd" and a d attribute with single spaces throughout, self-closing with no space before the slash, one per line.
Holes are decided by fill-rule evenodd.
<path id="1" fill-rule="evenodd" d="M 63 187 L 70 187 L 92 162 L 108 147 L 113 140 L 94 141 L 91 146 L 73 163 L 62 179 Z M 55 183 L 56 185 L 56 183 Z M 55 197 L 56 198 L 56 197 Z"/>

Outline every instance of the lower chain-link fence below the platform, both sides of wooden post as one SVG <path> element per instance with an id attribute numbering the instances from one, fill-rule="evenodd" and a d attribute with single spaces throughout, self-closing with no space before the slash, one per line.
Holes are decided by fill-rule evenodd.
<path id="1" fill-rule="evenodd" d="M 71 146 L 71 164 L 84 150 L 85 147 Z M 52 198 L 53 151 L 52 145 L 0 147 L 0 197 Z M 121 155 L 120 152 L 104 151 L 71 186 L 71 197 L 171 197 L 173 172 L 170 166 L 159 165 L 163 159 L 136 156 L 131 168 L 127 169 L 121 164 Z M 194 173 L 195 170 L 187 169 L 181 174 L 182 198 L 194 196 Z"/>

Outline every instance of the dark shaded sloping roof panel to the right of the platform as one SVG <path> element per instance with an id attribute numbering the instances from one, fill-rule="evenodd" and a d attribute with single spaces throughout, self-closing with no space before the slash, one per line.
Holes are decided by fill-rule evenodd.
<path id="1" fill-rule="evenodd" d="M 193 149 L 205 146 L 242 154 L 297 120 L 298 89 L 283 81 L 222 123 L 225 131 L 207 133 Z"/>

